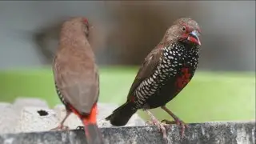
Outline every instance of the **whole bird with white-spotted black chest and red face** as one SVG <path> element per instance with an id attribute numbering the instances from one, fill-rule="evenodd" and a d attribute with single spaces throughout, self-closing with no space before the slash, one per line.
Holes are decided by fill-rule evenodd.
<path id="1" fill-rule="evenodd" d="M 201 46 L 199 33 L 198 23 L 193 19 L 179 18 L 175 21 L 142 62 L 126 103 L 114 110 L 106 120 L 114 126 L 123 126 L 138 109 L 146 110 L 166 138 L 164 127 L 149 111 L 160 106 L 182 126 L 183 135 L 186 125 L 166 108 L 166 103 L 190 82 L 197 69 Z"/>

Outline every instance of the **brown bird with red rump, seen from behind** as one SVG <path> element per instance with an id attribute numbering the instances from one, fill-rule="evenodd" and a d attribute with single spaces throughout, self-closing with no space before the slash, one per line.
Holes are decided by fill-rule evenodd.
<path id="1" fill-rule="evenodd" d="M 86 18 L 72 18 L 62 25 L 59 46 L 54 57 L 54 82 L 59 98 L 71 112 L 81 118 L 87 143 L 102 143 L 96 123 L 99 95 L 98 68 L 90 46 L 90 25 Z"/>

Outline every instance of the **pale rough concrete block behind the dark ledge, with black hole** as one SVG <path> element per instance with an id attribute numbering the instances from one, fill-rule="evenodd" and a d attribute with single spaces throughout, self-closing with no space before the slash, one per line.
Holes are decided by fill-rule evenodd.
<path id="1" fill-rule="evenodd" d="M 111 114 L 118 105 L 98 103 L 98 126 L 111 127 L 104 118 Z M 66 114 L 63 105 L 50 109 L 47 102 L 39 98 L 17 98 L 14 103 L 0 102 L 0 134 L 47 131 L 62 121 Z M 144 121 L 138 114 L 130 119 L 126 126 L 143 126 Z M 64 123 L 70 129 L 82 126 L 80 119 L 70 114 Z"/>

